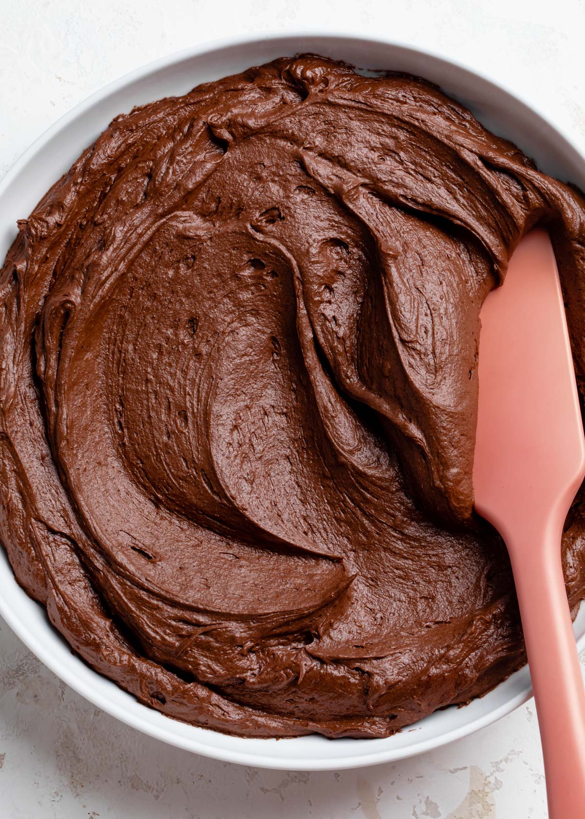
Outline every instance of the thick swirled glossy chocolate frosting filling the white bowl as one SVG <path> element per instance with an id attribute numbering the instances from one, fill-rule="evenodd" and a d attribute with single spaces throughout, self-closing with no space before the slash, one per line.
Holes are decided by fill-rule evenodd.
<path id="1" fill-rule="evenodd" d="M 21 586 L 220 731 L 384 736 L 482 695 L 524 647 L 472 510 L 478 313 L 546 224 L 583 382 L 584 214 L 438 88 L 320 57 L 117 117 L 2 270 Z"/>

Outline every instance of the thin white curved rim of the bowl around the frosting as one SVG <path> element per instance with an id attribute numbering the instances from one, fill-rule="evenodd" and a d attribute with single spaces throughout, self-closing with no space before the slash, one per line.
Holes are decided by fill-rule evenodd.
<path id="1" fill-rule="evenodd" d="M 238 34 L 230 37 L 208 40 L 199 43 L 196 46 L 184 48 L 177 52 L 172 52 L 165 57 L 160 57 L 156 60 L 149 61 L 143 66 L 139 66 L 138 68 L 127 72 L 125 75 L 114 79 L 111 81 L 111 83 L 104 85 L 102 88 L 99 88 L 90 96 L 77 103 L 70 109 L 70 111 L 67 111 L 64 115 L 61 115 L 61 117 L 55 123 L 53 123 L 34 140 L 34 142 L 25 150 L 25 152 L 22 153 L 20 157 L 11 165 L 2 179 L 0 179 L 0 199 L 2 199 L 4 194 L 9 190 L 11 184 L 17 179 L 20 172 L 25 169 L 26 165 L 28 165 L 29 162 L 34 159 L 34 156 L 39 152 L 39 150 L 43 148 L 54 136 L 65 130 L 70 123 L 78 119 L 80 116 L 83 116 L 84 113 L 97 102 L 102 102 L 120 89 L 125 88 L 125 86 L 134 83 L 134 81 L 147 78 L 149 75 L 154 75 L 161 69 L 170 68 L 193 57 L 204 57 L 205 55 L 211 55 L 213 52 L 223 52 L 229 48 L 253 46 L 256 43 L 259 47 L 261 46 L 261 43 L 271 43 L 272 45 L 275 45 L 279 40 L 288 43 L 291 40 L 297 39 L 299 43 L 301 43 L 303 39 L 310 38 L 329 40 L 331 41 L 332 45 L 334 45 L 335 41 L 351 42 L 356 44 L 356 46 L 363 47 L 365 49 L 367 48 L 368 43 L 375 44 L 378 47 L 388 46 L 395 51 L 397 50 L 403 53 L 408 53 L 412 57 L 416 57 L 417 55 L 420 57 L 428 57 L 436 63 L 442 63 L 444 66 L 454 68 L 460 73 L 470 75 L 471 77 L 483 82 L 483 84 L 486 84 L 487 87 L 491 87 L 494 93 L 499 95 L 501 95 L 501 93 L 505 93 L 511 97 L 512 100 L 517 102 L 519 106 L 523 106 L 524 109 L 528 109 L 528 112 L 531 115 L 537 117 L 537 120 L 539 120 L 539 126 L 542 127 L 542 129 L 546 129 L 549 132 L 554 132 L 556 138 L 560 138 L 560 141 L 563 143 L 563 149 L 568 152 L 569 156 L 573 156 L 581 164 L 585 163 L 585 156 L 583 156 L 583 153 L 574 144 L 573 139 L 569 136 L 569 134 L 567 134 L 562 127 L 559 127 L 556 124 L 553 125 L 547 119 L 546 115 L 543 114 L 537 106 L 534 106 L 533 102 L 526 101 L 515 90 L 512 90 L 506 84 L 502 84 L 499 79 L 497 81 L 495 79 L 491 79 L 488 75 L 483 73 L 483 71 L 477 70 L 465 62 L 452 59 L 451 57 L 446 57 L 441 52 L 434 51 L 433 49 L 420 48 L 412 45 L 411 43 L 405 43 L 393 38 L 365 32 L 355 34 L 349 30 L 342 29 L 320 30 L 301 28 L 292 30 L 274 30 L 262 33 L 261 35 L 252 33 Z M 302 51 L 302 48 L 299 49 L 299 51 Z M 0 553 L 2 553 L 0 556 L 5 557 L 6 562 L 8 563 L 6 553 L 2 545 L 0 545 Z M 8 565 L 10 564 L 8 563 Z M 20 589 L 14 575 L 12 575 L 12 580 L 12 591 L 14 591 L 15 594 L 25 595 L 25 591 Z M 341 770 L 354 767 L 366 767 L 369 765 L 379 764 L 381 762 L 392 762 L 397 759 L 410 758 L 420 753 L 437 749 L 444 744 L 448 744 L 454 740 L 463 738 L 474 731 L 478 731 L 480 728 L 488 726 L 492 722 L 496 722 L 501 717 L 504 717 L 506 714 L 514 711 L 515 708 L 518 708 L 521 704 L 524 704 L 532 696 L 532 688 L 529 685 L 528 678 L 528 685 L 521 687 L 520 690 L 506 699 L 506 701 L 499 707 L 486 709 L 485 713 L 480 713 L 478 717 L 465 723 L 464 725 L 457 726 L 456 728 L 451 729 L 451 731 L 446 731 L 427 740 L 419 741 L 418 743 L 406 748 L 392 748 L 392 746 L 389 746 L 379 749 L 378 743 L 383 742 L 384 740 L 354 740 L 359 742 L 368 742 L 368 744 L 371 744 L 372 752 L 359 755 L 351 755 L 351 753 L 348 753 L 344 757 L 331 758 L 328 758 L 327 753 L 324 752 L 318 755 L 315 754 L 315 757 L 311 758 L 311 760 L 306 760 L 305 758 L 298 758 L 294 756 L 271 756 L 270 744 L 275 740 L 265 740 L 253 737 L 230 737 L 230 739 L 242 740 L 246 745 L 253 743 L 253 747 L 257 749 L 257 753 L 245 750 L 239 751 L 236 749 L 224 749 L 213 744 L 208 744 L 205 740 L 197 740 L 196 738 L 193 739 L 191 737 L 180 735 L 178 731 L 173 731 L 171 727 L 172 725 L 178 724 L 180 726 L 183 725 L 183 723 L 177 723 L 170 717 L 166 717 L 158 713 L 158 716 L 161 717 L 160 724 L 155 724 L 155 722 L 147 722 L 147 720 L 139 716 L 139 712 L 135 714 L 134 710 L 126 710 L 120 704 L 116 704 L 116 702 L 108 699 L 107 695 L 105 695 L 102 690 L 98 690 L 97 686 L 93 687 L 92 684 L 89 683 L 89 678 L 87 680 L 84 679 L 84 677 L 87 676 L 87 673 L 93 677 L 99 677 L 101 675 L 94 672 L 93 669 L 88 667 L 77 655 L 75 655 L 75 658 L 79 661 L 79 666 L 76 665 L 74 668 L 70 668 L 65 664 L 62 664 L 59 658 L 52 654 L 50 645 L 43 642 L 42 635 L 39 636 L 31 627 L 29 627 L 25 620 L 19 617 L 17 609 L 11 605 L 10 596 L 10 590 L 5 596 L 5 590 L 0 588 L 0 614 L 2 614 L 2 618 L 4 618 L 4 620 L 7 622 L 7 625 L 11 627 L 11 630 L 16 633 L 20 640 L 22 640 L 22 642 L 36 655 L 37 658 L 39 658 L 39 660 L 41 660 L 45 666 L 55 673 L 62 681 L 66 682 L 66 684 L 75 690 L 79 695 L 83 696 L 84 699 L 87 699 L 98 708 L 102 708 L 103 711 L 119 719 L 120 722 L 124 722 L 126 725 L 132 726 L 138 731 L 142 731 L 147 735 L 162 740 L 168 744 L 175 745 L 181 749 L 199 753 L 202 756 L 215 758 L 224 762 L 235 762 L 238 764 L 252 765 L 254 767 L 265 767 L 274 770 L 298 771 Z M 41 607 L 40 604 L 35 605 L 38 605 L 40 608 L 44 609 L 44 607 Z M 585 606 L 583 609 L 585 609 Z M 47 624 L 48 627 L 53 628 L 48 620 Z M 583 650 L 584 648 L 585 633 L 583 633 L 583 636 L 578 640 L 578 649 Z M 526 676 L 528 677 L 528 674 L 526 674 Z M 115 684 L 111 683 L 111 685 Z M 132 697 L 132 695 L 127 694 L 127 692 L 125 692 L 125 694 Z M 134 697 L 132 697 L 132 699 L 134 699 Z M 138 700 L 134 701 L 139 708 L 152 713 L 152 708 L 148 708 L 146 705 L 138 703 Z M 433 715 L 427 718 L 432 717 Z M 211 731 L 211 729 L 199 728 L 198 730 L 216 735 L 216 732 Z M 406 730 L 408 729 L 405 729 L 405 731 Z M 307 738 L 302 737 L 301 739 Z M 282 740 L 279 740 L 279 742 L 280 741 Z M 288 744 L 297 740 L 295 738 L 291 738 L 286 741 Z M 324 740 L 326 743 L 329 743 L 329 741 L 330 740 Z M 263 753 L 263 744 L 266 753 Z M 322 748 L 324 747 L 325 746 L 322 746 Z"/>

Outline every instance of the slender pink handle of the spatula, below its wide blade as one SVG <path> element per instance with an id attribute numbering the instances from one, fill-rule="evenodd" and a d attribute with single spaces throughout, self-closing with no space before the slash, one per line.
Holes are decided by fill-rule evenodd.
<path id="1" fill-rule="evenodd" d="M 510 557 L 542 737 L 549 817 L 578 819 L 585 817 L 585 688 L 560 538 L 550 529 L 544 536 L 544 548 L 529 545 L 528 559 L 526 545 L 510 549 Z"/>

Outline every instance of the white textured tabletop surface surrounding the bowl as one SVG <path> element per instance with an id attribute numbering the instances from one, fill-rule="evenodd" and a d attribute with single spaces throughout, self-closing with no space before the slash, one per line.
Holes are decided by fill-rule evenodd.
<path id="1" fill-rule="evenodd" d="M 533 102 L 585 151 L 579 0 L 0 0 L 0 176 L 59 116 L 144 62 L 230 34 L 307 27 L 383 33 L 464 61 Z M 261 771 L 121 725 L 0 621 L 0 817 L 545 819 L 546 795 L 533 704 L 405 762 Z"/>

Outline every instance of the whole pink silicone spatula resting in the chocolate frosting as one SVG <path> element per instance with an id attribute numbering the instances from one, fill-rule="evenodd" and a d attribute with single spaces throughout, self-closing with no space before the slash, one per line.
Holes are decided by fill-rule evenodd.
<path id="1" fill-rule="evenodd" d="M 484 302 L 475 508 L 510 552 L 536 699 L 551 819 L 585 817 L 585 692 L 560 563 L 585 441 L 555 256 L 519 243 Z"/>

